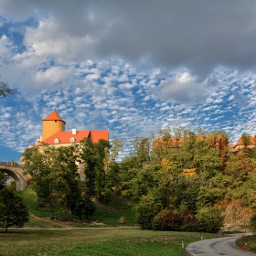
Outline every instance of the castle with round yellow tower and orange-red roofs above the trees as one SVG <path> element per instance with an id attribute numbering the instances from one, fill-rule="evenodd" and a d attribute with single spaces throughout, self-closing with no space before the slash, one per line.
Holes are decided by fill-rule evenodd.
<path id="1" fill-rule="evenodd" d="M 77 144 L 84 138 L 91 139 L 92 143 L 98 143 L 99 140 L 109 140 L 108 130 L 77 130 L 65 131 L 66 122 L 61 119 L 59 113 L 55 110 L 48 117 L 42 120 L 42 135 L 37 138 L 36 144 L 30 144 L 34 147 L 41 144 L 59 146 L 69 146 Z"/>

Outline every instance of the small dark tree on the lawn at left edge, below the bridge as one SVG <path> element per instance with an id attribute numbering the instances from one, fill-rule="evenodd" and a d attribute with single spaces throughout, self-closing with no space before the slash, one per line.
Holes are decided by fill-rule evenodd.
<path id="1" fill-rule="evenodd" d="M 7 188 L 0 191 L 0 225 L 5 228 L 5 232 L 12 226 L 22 227 L 29 221 L 28 216 L 21 197 Z"/>

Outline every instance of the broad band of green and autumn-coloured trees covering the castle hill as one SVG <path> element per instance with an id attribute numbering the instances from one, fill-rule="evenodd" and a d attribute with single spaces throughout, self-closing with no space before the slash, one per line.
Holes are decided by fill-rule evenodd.
<path id="1" fill-rule="evenodd" d="M 142 229 L 202 230 L 247 227 L 256 208 L 256 140 L 241 136 L 239 151 L 222 131 L 177 128 L 122 140 L 90 139 L 69 147 L 48 144 L 22 156 L 38 205 L 90 219 L 95 200 L 129 200 Z"/>

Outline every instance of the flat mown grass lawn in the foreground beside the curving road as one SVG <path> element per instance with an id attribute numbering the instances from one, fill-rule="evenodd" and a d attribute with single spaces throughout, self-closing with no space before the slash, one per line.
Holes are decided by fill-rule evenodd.
<path id="1" fill-rule="evenodd" d="M 215 235 L 204 234 L 204 238 Z M 9 229 L 0 231 L 0 256 L 182 256 L 199 233 L 142 229 Z"/>

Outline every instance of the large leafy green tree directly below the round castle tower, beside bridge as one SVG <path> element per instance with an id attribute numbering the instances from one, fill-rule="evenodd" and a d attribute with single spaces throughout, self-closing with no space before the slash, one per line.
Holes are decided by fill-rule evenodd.
<path id="1" fill-rule="evenodd" d="M 48 204 L 52 215 L 56 209 L 67 214 L 76 207 L 81 194 L 76 145 L 56 148 L 45 144 L 27 149 L 22 158 L 41 206 Z"/>

